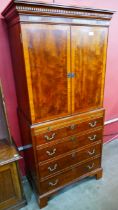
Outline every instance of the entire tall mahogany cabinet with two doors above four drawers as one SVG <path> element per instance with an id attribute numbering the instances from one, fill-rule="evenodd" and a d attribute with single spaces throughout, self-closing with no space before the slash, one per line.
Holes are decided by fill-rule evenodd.
<path id="1" fill-rule="evenodd" d="M 40 207 L 64 186 L 102 177 L 103 93 L 113 12 L 14 0 L 3 11 L 27 173 Z"/>

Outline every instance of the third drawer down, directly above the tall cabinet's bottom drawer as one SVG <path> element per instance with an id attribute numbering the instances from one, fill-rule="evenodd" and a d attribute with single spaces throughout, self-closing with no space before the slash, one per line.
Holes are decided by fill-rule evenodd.
<path id="1" fill-rule="evenodd" d="M 63 170 L 74 164 L 79 164 L 81 161 L 86 161 L 89 158 L 101 154 L 101 144 L 89 146 L 84 150 L 73 150 L 70 154 L 61 158 L 48 161 L 45 164 L 39 164 L 40 177 L 53 175 L 54 173 Z"/>

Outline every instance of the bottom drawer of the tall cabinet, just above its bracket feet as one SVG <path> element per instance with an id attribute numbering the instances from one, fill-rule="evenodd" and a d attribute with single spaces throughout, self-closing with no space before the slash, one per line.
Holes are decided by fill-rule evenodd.
<path id="1" fill-rule="evenodd" d="M 52 191 L 62 187 L 83 175 L 89 175 L 89 172 L 101 167 L 101 159 L 97 158 L 82 164 L 78 167 L 73 167 L 70 170 L 40 182 L 41 193 Z"/>

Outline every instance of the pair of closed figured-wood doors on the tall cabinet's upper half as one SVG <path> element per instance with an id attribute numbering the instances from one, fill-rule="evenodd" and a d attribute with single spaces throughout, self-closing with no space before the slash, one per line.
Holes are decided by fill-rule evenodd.
<path id="1" fill-rule="evenodd" d="M 23 24 L 21 30 L 34 122 L 102 107 L 107 28 Z"/>

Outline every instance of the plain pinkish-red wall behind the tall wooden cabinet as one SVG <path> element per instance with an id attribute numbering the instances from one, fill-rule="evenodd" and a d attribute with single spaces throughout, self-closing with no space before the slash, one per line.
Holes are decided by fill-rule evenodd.
<path id="1" fill-rule="evenodd" d="M 0 13 L 10 0 L 0 0 Z M 42 1 L 43 2 L 43 1 Z M 52 3 L 52 0 L 45 2 Z M 55 0 L 57 4 L 87 6 L 93 8 L 118 10 L 118 0 Z M 8 41 L 7 26 L 5 20 L 0 16 L 0 79 L 3 84 L 5 95 L 9 127 L 11 134 L 17 146 L 21 146 L 21 136 L 17 118 L 17 99 L 12 71 L 11 54 Z M 107 64 L 106 64 L 106 82 L 104 107 L 106 109 L 105 120 L 118 118 L 118 13 L 116 12 L 111 20 L 109 29 Z M 108 133 L 117 133 L 118 123 L 105 126 L 105 135 Z M 104 141 L 108 141 L 113 136 L 107 136 Z M 24 162 L 21 162 L 22 172 L 24 174 Z"/>

